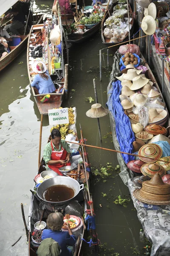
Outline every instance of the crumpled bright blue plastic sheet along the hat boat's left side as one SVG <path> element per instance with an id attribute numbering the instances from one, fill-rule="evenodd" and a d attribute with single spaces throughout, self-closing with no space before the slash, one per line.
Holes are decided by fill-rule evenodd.
<path id="1" fill-rule="evenodd" d="M 112 88 L 108 92 L 110 95 L 107 106 L 115 119 L 116 136 L 120 145 L 120 150 L 123 152 L 132 153 L 132 143 L 135 140 L 135 136 L 131 128 L 130 119 L 124 113 L 123 107 L 119 100 L 121 88 L 121 81 L 112 82 Z M 131 155 L 122 154 L 122 157 L 125 163 L 134 160 L 134 157 Z"/>

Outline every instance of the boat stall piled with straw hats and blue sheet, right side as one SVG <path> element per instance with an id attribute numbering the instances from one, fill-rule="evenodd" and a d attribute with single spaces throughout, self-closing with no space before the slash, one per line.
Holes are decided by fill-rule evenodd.
<path id="1" fill-rule="evenodd" d="M 123 45 L 115 53 L 107 94 L 115 149 L 137 155 L 117 154 L 119 175 L 153 244 L 151 256 L 169 256 L 170 119 L 138 46 Z"/>

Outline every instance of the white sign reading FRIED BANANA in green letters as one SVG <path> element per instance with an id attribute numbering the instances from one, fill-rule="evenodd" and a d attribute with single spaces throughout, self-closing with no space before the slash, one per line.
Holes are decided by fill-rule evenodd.
<path id="1" fill-rule="evenodd" d="M 68 108 L 49 109 L 48 112 L 50 125 L 69 124 Z"/>

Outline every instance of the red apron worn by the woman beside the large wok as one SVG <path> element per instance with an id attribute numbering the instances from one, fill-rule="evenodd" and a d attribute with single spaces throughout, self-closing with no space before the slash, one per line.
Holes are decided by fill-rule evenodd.
<path id="1" fill-rule="evenodd" d="M 53 145 L 52 145 L 52 140 L 51 140 L 51 147 L 52 147 L 52 154 L 51 154 L 51 160 L 66 160 L 67 156 L 67 151 L 62 147 L 61 145 L 61 151 L 54 151 Z M 66 163 L 66 164 L 61 164 L 57 163 L 55 165 L 49 165 L 49 168 L 52 169 L 53 171 L 57 172 L 59 175 L 63 176 L 63 174 L 59 171 L 59 168 L 63 166 L 70 166 L 71 163 Z"/>

